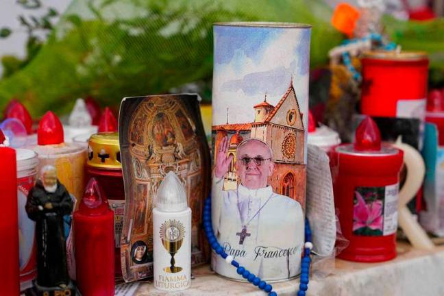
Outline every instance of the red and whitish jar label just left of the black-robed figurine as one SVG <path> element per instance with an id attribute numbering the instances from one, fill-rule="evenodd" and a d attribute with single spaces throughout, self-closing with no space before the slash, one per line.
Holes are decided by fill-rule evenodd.
<path id="1" fill-rule="evenodd" d="M 35 230 L 36 223 L 27 217 L 25 205 L 29 190 L 34 186 L 36 173 L 18 178 L 18 237 L 21 291 L 32 286 L 32 280 L 37 275 L 37 259 Z"/>

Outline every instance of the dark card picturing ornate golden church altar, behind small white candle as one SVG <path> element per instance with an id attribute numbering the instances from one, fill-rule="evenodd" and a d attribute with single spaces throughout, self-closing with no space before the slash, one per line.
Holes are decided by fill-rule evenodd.
<path id="1" fill-rule="evenodd" d="M 186 188 L 193 211 L 193 265 L 206 262 L 200 229 L 203 201 L 210 190 L 210 152 L 197 95 L 125 98 L 119 117 L 119 140 L 125 181 L 125 219 L 121 262 L 126 282 L 153 275 L 151 211 L 160 182 L 169 171 Z M 134 245 L 147 246 L 146 260 L 134 262 Z"/>

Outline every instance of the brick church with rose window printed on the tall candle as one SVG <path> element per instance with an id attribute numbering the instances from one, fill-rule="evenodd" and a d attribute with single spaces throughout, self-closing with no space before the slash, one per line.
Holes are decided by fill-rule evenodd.
<path id="1" fill-rule="evenodd" d="M 217 151 L 221 139 L 228 136 L 234 161 L 225 175 L 224 190 L 235 190 L 238 185 L 236 169 L 236 147 L 247 138 L 258 138 L 273 150 L 275 172 L 269 184 L 275 193 L 286 195 L 299 201 L 305 208 L 306 164 L 304 164 L 304 123 L 299 103 L 293 88 L 293 81 L 276 106 L 264 101 L 254 108 L 254 122 L 214 125 L 212 143 Z"/>

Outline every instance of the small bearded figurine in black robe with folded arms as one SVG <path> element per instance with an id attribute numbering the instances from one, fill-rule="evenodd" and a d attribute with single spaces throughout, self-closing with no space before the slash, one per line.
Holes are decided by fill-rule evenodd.
<path id="1" fill-rule="evenodd" d="M 73 211 L 73 200 L 57 178 L 56 168 L 47 165 L 40 171 L 40 179 L 29 190 L 26 212 L 36 221 L 37 295 L 75 295 L 66 264 L 64 220 Z M 62 293 L 62 294 L 61 294 Z"/>

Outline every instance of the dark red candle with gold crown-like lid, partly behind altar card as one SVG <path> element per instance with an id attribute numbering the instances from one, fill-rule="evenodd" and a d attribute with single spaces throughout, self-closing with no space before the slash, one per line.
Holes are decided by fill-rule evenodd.
<path id="1" fill-rule="evenodd" d="M 121 276 L 120 243 L 125 211 L 125 189 L 123 187 L 119 134 L 103 132 L 90 136 L 86 176 L 88 178 L 95 177 L 108 197 L 108 203 L 114 212 L 114 262 L 116 275 Z"/>

